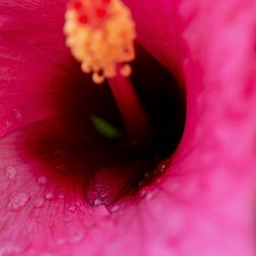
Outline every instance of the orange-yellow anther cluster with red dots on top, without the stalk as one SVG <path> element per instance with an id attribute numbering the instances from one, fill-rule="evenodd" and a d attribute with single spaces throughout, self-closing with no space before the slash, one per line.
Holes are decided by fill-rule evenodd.
<path id="1" fill-rule="evenodd" d="M 120 0 L 79 0 L 66 13 L 67 46 L 84 73 L 101 84 L 106 78 L 131 74 L 135 59 L 135 23 Z M 100 74 L 101 73 L 101 74 Z"/>

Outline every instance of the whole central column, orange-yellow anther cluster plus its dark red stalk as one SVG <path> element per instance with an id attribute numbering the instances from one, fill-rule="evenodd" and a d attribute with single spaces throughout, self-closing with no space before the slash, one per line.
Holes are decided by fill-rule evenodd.
<path id="1" fill-rule="evenodd" d="M 135 59 L 135 24 L 130 10 L 119 0 L 72 2 L 67 9 L 64 32 L 73 56 L 84 73 L 93 73 L 100 84 L 108 79 L 126 132 L 135 143 L 149 136 L 150 123 L 130 79 Z M 100 74 L 102 73 L 102 74 Z"/>

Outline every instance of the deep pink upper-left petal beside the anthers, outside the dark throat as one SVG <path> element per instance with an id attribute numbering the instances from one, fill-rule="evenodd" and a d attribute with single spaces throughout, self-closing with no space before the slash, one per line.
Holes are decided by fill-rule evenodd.
<path id="1" fill-rule="evenodd" d="M 58 111 L 58 87 L 73 72 L 61 32 L 64 5 L 0 3 L 0 137 Z"/>

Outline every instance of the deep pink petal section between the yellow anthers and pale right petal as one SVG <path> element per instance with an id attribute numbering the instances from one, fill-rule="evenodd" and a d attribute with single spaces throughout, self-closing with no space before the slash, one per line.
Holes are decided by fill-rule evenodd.
<path id="1" fill-rule="evenodd" d="M 137 24 L 137 40 L 172 73 L 181 75 L 185 54 L 181 1 L 124 1 Z"/>

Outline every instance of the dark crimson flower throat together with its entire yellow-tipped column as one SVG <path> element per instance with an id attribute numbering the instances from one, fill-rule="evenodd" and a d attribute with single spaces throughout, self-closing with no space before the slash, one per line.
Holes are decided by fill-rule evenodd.
<path id="1" fill-rule="evenodd" d="M 26 131 L 20 157 L 37 163 L 35 175 L 55 194 L 111 206 L 138 195 L 171 164 L 183 135 L 183 87 L 134 44 L 130 11 L 118 0 L 72 2 L 65 32 L 83 72 L 72 62 L 69 79 L 55 78 L 58 114 Z"/>

